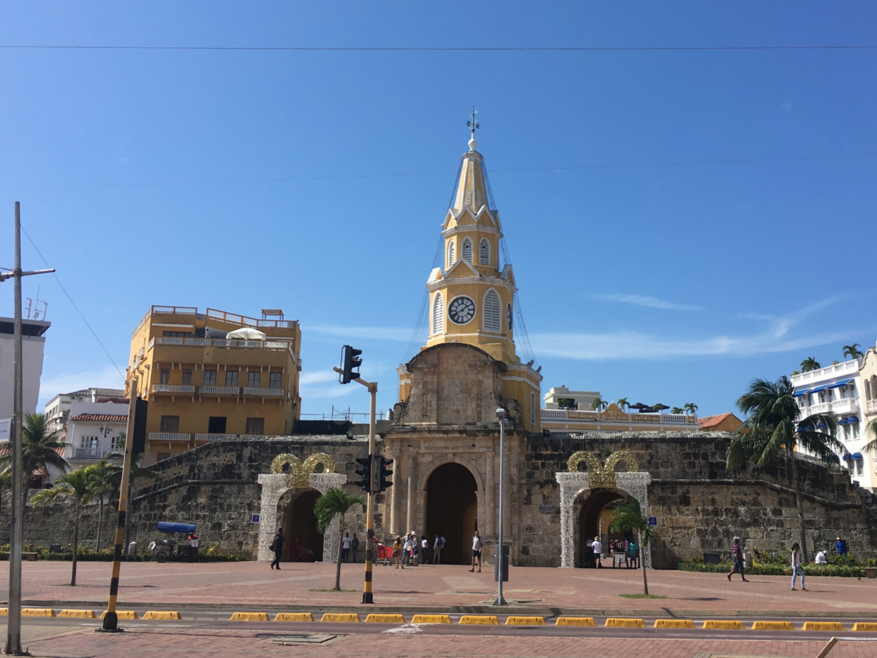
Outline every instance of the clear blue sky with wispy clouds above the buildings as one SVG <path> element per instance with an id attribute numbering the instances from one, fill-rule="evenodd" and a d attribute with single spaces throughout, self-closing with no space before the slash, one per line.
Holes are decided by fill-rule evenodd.
<path id="1" fill-rule="evenodd" d="M 181 5 L 4 4 L 0 45 L 877 44 L 865 2 Z M 282 307 L 303 411 L 367 411 L 331 373 L 343 343 L 386 409 L 474 104 L 543 392 L 731 411 L 752 377 L 877 339 L 875 72 L 877 50 L 0 48 L 0 266 L 20 201 L 123 371 L 151 304 Z M 42 401 L 119 385 L 38 285 Z"/>

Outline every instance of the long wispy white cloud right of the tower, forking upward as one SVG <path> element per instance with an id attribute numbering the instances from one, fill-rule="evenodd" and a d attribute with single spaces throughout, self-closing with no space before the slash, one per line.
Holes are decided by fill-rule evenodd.
<path id="1" fill-rule="evenodd" d="M 751 335 L 719 335 L 707 338 L 663 338 L 647 333 L 622 330 L 614 333 L 540 333 L 531 336 L 538 354 L 567 359 L 667 359 L 674 356 L 743 356 L 788 352 L 842 340 L 849 331 L 789 336 L 804 318 L 833 303 L 825 299 L 816 304 L 774 318 L 767 331 Z"/>

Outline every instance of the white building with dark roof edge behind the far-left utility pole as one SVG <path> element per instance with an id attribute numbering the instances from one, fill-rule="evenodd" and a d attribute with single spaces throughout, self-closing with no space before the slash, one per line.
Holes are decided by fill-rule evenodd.
<path id="1" fill-rule="evenodd" d="M 43 334 L 52 325 L 43 320 L 21 321 L 22 406 L 25 413 L 37 411 L 39 376 L 43 372 Z M 15 382 L 15 319 L 0 318 L 0 441 L 8 441 Z"/>

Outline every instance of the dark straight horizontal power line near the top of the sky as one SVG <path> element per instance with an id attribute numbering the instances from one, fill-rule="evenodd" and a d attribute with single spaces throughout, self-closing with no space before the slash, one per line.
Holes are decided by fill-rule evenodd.
<path id="1" fill-rule="evenodd" d="M 75 46 L 69 44 L 0 44 L 22 50 L 201 50 L 304 53 L 617 53 L 747 50 L 875 50 L 877 46 Z"/>

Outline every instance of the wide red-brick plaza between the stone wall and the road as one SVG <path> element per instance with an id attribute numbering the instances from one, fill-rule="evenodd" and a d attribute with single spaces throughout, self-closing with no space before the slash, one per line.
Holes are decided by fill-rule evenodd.
<path id="1" fill-rule="evenodd" d="M 0 583 L 9 578 L 8 562 L 0 562 Z M 69 586 L 70 563 L 27 562 L 24 565 L 25 601 L 92 603 L 101 608 L 109 592 L 110 562 L 80 562 L 77 587 Z M 510 569 L 505 594 L 511 604 L 534 609 L 590 612 L 704 614 L 771 613 L 773 616 L 810 614 L 877 618 L 877 579 L 813 577 L 809 592 L 791 591 L 785 576 L 750 576 L 729 583 L 722 574 L 686 571 L 648 571 L 649 592 L 666 598 L 627 598 L 642 592 L 642 572 L 628 569 Z M 211 607 L 266 606 L 332 609 L 360 606 L 361 564 L 342 565 L 341 586 L 332 588 L 332 564 L 284 563 L 273 571 L 262 562 L 129 562 L 122 565 L 120 604 Z M 496 591 L 493 569 L 471 573 L 465 566 L 421 566 L 396 569 L 378 565 L 374 571 L 374 600 L 379 606 L 401 611 L 424 608 L 461 610 L 492 603 Z M 0 591 L 5 600 L 5 591 Z"/>

